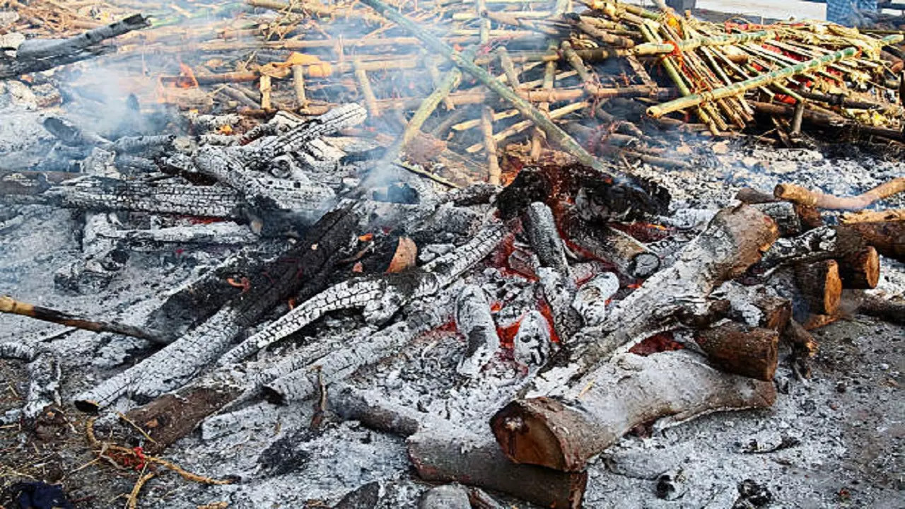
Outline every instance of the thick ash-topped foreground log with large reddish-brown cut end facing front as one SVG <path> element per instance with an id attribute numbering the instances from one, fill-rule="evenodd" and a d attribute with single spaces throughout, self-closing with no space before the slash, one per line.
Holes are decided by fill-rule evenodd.
<path id="1" fill-rule="evenodd" d="M 556 398 L 516 399 L 491 418 L 515 462 L 579 472 L 633 427 L 675 424 L 715 410 L 765 408 L 772 382 L 715 370 L 688 351 L 624 354 L 561 388 Z"/>

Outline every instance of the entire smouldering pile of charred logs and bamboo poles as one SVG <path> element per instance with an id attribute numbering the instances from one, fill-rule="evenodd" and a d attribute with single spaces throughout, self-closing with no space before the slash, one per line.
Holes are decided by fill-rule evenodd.
<path id="1" fill-rule="evenodd" d="M 192 474 L 158 457 L 181 440 L 353 420 L 405 438 L 438 485 L 422 507 L 580 507 L 627 433 L 770 408 L 781 363 L 811 376 L 811 331 L 905 316 L 870 292 L 905 262 L 905 178 L 835 196 L 792 175 L 700 209 L 656 177 L 694 168 L 679 142 L 901 141 L 884 59 L 900 34 L 596 0 L 249 0 L 110 23 L 10 6 L 0 77 L 40 111 L 47 150 L 0 172 L 2 228 L 77 213 L 81 253 L 52 276 L 67 295 L 204 253 L 119 317 L 0 289 L 0 312 L 141 341 L 69 387 L 55 341 L 0 343 L 30 379 L 5 425 L 94 416 L 95 467 L 142 466 L 131 507 L 148 465 L 226 485 L 298 460 Z M 107 72 L 122 104 L 91 97 Z M 373 490 L 335 506 L 374 506 Z"/>

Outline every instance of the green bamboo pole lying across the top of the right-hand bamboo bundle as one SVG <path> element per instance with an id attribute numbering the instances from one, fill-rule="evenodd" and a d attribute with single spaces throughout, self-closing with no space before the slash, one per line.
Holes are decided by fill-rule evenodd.
<path id="1" fill-rule="evenodd" d="M 901 40 L 901 36 L 891 35 L 889 37 L 883 38 L 883 42 L 891 43 L 895 39 Z M 721 87 L 716 90 L 702 91 L 700 93 L 691 94 L 680 99 L 664 102 L 663 104 L 654 105 L 648 108 L 647 114 L 652 116 L 653 118 L 658 118 L 667 113 L 671 113 L 672 111 L 684 110 L 686 108 L 700 106 L 700 104 L 705 101 L 716 101 L 718 99 L 732 97 L 759 86 L 767 85 L 779 80 L 784 80 L 786 78 L 791 78 L 792 76 L 795 76 L 795 74 L 814 71 L 816 69 L 825 67 L 832 62 L 839 62 L 840 60 L 846 58 L 852 58 L 853 56 L 858 54 L 858 51 L 858 48 L 852 46 L 834 53 L 830 53 L 828 55 L 824 55 L 820 58 L 815 58 L 806 62 L 798 63 L 796 65 L 791 65 L 774 72 L 767 72 L 754 78 L 750 78 L 744 82 L 733 83 L 729 86 Z"/>

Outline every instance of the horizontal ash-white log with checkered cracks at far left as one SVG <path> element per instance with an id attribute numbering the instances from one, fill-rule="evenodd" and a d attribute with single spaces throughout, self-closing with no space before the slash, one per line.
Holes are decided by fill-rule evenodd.
<path id="1" fill-rule="evenodd" d="M 67 180 L 47 189 L 43 197 L 50 203 L 94 212 L 127 210 L 224 219 L 242 219 L 246 206 L 244 198 L 229 187 L 93 176 Z"/>

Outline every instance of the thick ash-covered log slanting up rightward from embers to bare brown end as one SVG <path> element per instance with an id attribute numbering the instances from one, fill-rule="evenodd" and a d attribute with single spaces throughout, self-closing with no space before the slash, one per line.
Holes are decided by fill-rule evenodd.
<path id="1" fill-rule="evenodd" d="M 554 358 L 538 383 L 557 386 L 583 376 L 615 351 L 668 331 L 705 303 L 719 284 L 743 274 L 778 235 L 776 223 L 752 206 L 720 210 L 672 267 L 653 274 L 607 312 L 606 321 L 576 334 L 565 356 Z M 543 391 L 541 391 L 543 392 Z"/>

